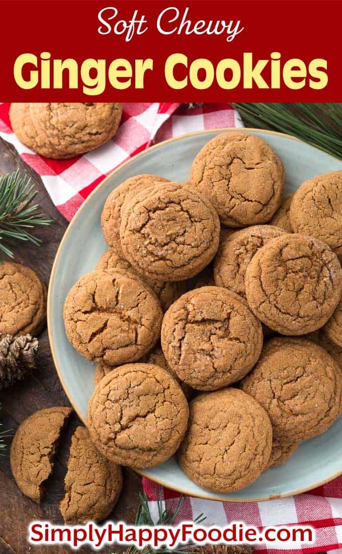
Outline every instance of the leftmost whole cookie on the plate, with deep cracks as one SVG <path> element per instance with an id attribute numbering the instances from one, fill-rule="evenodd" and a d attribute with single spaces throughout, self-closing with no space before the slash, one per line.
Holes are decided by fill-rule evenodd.
<path id="1" fill-rule="evenodd" d="M 136 361 L 160 335 L 163 312 L 152 289 L 121 270 L 92 271 L 71 288 L 64 304 L 66 335 L 87 360 Z"/>

